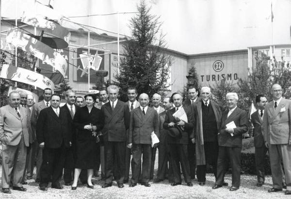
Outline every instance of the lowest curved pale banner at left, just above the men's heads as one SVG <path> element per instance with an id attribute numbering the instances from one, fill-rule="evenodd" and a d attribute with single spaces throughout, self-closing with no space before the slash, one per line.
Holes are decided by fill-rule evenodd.
<path id="1" fill-rule="evenodd" d="M 54 90 L 54 83 L 49 78 L 39 73 L 21 67 L 3 64 L 0 78 L 37 86 L 41 89 L 50 88 Z"/>

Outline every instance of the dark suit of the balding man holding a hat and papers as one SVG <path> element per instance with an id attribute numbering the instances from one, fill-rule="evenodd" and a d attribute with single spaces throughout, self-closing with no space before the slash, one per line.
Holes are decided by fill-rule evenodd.
<path id="1" fill-rule="evenodd" d="M 170 160 L 173 166 L 174 182 L 181 183 L 180 165 L 185 182 L 191 182 L 190 164 L 188 159 L 188 143 L 189 135 L 192 133 L 194 128 L 194 118 L 192 110 L 189 108 L 184 109 L 187 115 L 188 123 L 184 125 L 184 131 L 181 132 L 181 138 L 173 138 L 168 136 L 167 142 L 170 148 Z M 176 122 L 172 116 L 176 109 L 173 108 L 166 113 L 165 121 L 163 123 L 164 129 L 169 129 L 168 124 L 170 122 Z"/>

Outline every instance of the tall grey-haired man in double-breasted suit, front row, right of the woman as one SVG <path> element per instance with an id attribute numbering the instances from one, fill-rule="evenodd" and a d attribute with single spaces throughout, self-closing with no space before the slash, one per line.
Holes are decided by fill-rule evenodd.
<path id="1" fill-rule="evenodd" d="M 123 188 L 125 176 L 125 142 L 129 129 L 129 107 L 117 99 L 119 88 L 110 85 L 107 88 L 110 101 L 101 107 L 104 117 L 102 129 L 105 152 L 105 183 L 102 188 L 112 186 L 114 157 L 117 159 L 116 181 Z"/>

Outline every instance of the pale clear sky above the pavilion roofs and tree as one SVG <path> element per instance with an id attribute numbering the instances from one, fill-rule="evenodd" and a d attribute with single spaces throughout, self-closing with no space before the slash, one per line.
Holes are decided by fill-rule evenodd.
<path id="1" fill-rule="evenodd" d="M 49 0 L 38 1 L 49 3 Z M 23 10 L 33 2 L 1 0 L 1 17 L 21 17 Z M 135 14 L 129 12 L 137 12 L 139 0 L 50 0 L 50 3 L 74 22 L 115 33 L 117 15 L 73 16 L 119 12 L 119 33 L 130 36 L 129 20 Z M 166 34 L 167 47 L 171 50 L 199 54 L 271 44 L 291 45 L 291 0 L 146 0 L 146 3 L 151 6 L 150 13 L 163 22 L 162 33 Z M 71 28 L 81 28 L 72 25 Z"/>

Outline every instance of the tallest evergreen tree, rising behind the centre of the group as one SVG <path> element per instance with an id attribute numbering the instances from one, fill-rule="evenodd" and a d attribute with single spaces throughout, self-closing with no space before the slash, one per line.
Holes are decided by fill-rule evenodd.
<path id="1" fill-rule="evenodd" d="M 130 20 L 132 38 L 124 43 L 120 73 L 115 76 L 121 100 L 127 100 L 126 91 L 134 86 L 138 94 L 154 93 L 162 96 L 168 90 L 171 57 L 165 53 L 166 42 L 159 17 L 150 14 L 144 0 L 137 6 L 139 13 Z"/>

